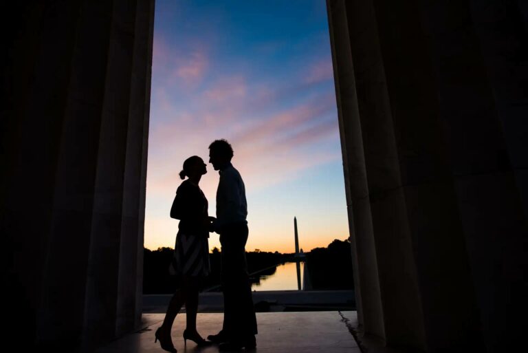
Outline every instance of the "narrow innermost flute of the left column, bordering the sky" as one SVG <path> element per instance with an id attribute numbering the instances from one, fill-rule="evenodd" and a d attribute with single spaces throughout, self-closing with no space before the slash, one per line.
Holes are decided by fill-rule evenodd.
<path id="1" fill-rule="evenodd" d="M 124 160 L 122 224 L 116 333 L 141 320 L 143 306 L 143 243 L 151 103 L 154 1 L 138 1 L 131 63 L 129 122 Z M 134 312 L 135 316 L 130 313 Z"/>

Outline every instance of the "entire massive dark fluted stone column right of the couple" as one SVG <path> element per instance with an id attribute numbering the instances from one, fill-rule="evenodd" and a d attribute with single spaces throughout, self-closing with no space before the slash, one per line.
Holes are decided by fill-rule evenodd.
<path id="1" fill-rule="evenodd" d="M 514 347 L 526 268 L 526 7 L 327 5 L 345 184 L 352 205 L 358 186 L 369 200 L 349 215 L 364 323 L 380 310 L 364 305 L 362 277 L 374 274 L 361 257 L 379 273 L 384 331 L 365 333 L 425 352 Z M 361 154 L 364 165 L 351 159 Z M 369 237 L 375 250 L 361 253 Z"/>

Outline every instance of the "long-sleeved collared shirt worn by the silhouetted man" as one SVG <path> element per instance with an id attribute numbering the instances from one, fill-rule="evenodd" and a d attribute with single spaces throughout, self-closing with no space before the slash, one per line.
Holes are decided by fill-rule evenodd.
<path id="1" fill-rule="evenodd" d="M 247 224 L 248 203 L 245 200 L 245 186 L 242 177 L 231 163 L 220 169 L 217 189 L 217 221 L 214 226 L 226 224 Z"/>

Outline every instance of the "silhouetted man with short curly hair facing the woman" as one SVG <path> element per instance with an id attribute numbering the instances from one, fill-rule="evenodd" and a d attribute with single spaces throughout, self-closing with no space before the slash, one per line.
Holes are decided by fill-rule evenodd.
<path id="1" fill-rule="evenodd" d="M 221 282 L 223 290 L 223 328 L 210 341 L 220 350 L 238 350 L 256 346 L 256 316 L 253 307 L 245 242 L 248 240 L 248 206 L 244 182 L 231 164 L 233 149 L 226 140 L 209 146 L 209 162 L 219 171 L 217 217 L 212 228 L 220 235 Z"/>

